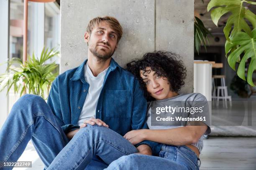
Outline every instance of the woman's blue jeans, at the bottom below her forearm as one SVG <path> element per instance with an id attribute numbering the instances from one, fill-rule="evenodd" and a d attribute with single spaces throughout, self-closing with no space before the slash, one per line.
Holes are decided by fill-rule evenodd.
<path id="1" fill-rule="evenodd" d="M 187 146 L 162 145 L 159 157 L 131 154 L 105 170 L 199 170 L 197 155 Z"/>

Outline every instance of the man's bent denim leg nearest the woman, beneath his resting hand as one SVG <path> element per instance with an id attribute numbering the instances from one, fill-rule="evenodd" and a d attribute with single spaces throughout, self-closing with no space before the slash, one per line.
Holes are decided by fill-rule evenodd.
<path id="1" fill-rule="evenodd" d="M 84 170 L 94 155 L 109 165 L 123 155 L 137 152 L 138 150 L 128 140 L 113 130 L 98 125 L 87 125 L 74 135 L 53 160 L 48 170 Z"/>

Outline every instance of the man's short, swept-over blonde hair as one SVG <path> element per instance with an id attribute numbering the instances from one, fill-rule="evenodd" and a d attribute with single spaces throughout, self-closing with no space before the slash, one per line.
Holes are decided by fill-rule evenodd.
<path id="1" fill-rule="evenodd" d="M 102 21 L 105 21 L 106 23 L 108 23 L 108 25 L 110 25 L 110 27 L 115 30 L 118 34 L 117 37 L 117 43 L 119 42 L 119 40 L 121 39 L 122 35 L 123 35 L 123 28 L 121 27 L 120 23 L 118 22 L 117 19 L 115 19 L 114 17 L 110 17 L 110 16 L 102 16 L 102 17 L 96 17 L 93 18 L 92 20 L 90 20 L 86 31 L 91 34 L 92 33 L 92 29 L 95 27 L 95 25 L 100 25 L 100 23 Z"/>

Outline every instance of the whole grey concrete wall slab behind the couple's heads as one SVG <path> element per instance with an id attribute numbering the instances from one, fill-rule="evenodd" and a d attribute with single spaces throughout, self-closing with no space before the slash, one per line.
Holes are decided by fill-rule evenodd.
<path id="1" fill-rule="evenodd" d="M 194 0 L 61 0 L 60 72 L 87 58 L 84 32 L 89 20 L 101 15 L 117 18 L 123 27 L 113 55 L 122 67 L 146 52 L 176 52 L 187 67 L 182 91 L 193 91 Z"/>

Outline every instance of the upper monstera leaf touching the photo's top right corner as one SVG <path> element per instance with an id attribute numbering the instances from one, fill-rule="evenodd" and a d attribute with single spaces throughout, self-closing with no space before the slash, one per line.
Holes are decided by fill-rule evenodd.
<path id="1" fill-rule="evenodd" d="M 212 7 L 216 7 L 211 10 L 211 18 L 217 26 L 222 15 L 229 12 L 231 13 L 223 29 L 225 37 L 228 41 L 230 41 L 229 35 L 232 26 L 233 30 L 231 31 L 231 36 L 241 30 L 251 36 L 251 28 L 246 23 L 244 18 L 246 18 L 253 25 L 253 28 L 256 28 L 256 15 L 249 9 L 243 7 L 243 2 L 256 5 L 256 2 L 251 2 L 248 0 L 211 0 L 207 5 L 207 11 L 212 9 Z"/>

